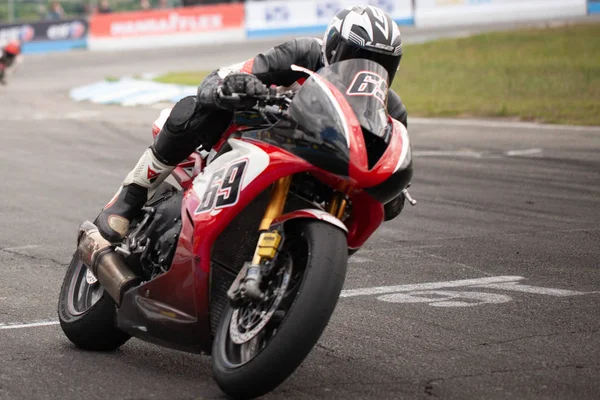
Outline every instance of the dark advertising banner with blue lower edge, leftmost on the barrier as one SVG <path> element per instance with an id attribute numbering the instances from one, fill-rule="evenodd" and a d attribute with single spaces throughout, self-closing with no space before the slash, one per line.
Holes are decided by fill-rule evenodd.
<path id="1" fill-rule="evenodd" d="M 23 53 L 66 51 L 86 47 L 88 23 L 82 19 L 0 25 L 0 44 L 19 40 Z"/>

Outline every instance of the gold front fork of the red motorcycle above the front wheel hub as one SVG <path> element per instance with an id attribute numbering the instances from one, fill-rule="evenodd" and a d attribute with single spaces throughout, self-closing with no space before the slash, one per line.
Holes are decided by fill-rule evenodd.
<path id="1" fill-rule="evenodd" d="M 269 227 L 283 213 L 291 183 L 292 177 L 286 176 L 279 178 L 273 185 L 269 203 L 260 222 L 259 232 L 261 234 L 256 250 L 254 251 L 252 263 L 244 264 L 244 267 L 227 292 L 234 306 L 245 298 L 254 301 L 264 299 L 264 293 L 260 289 L 262 267 L 268 266 L 273 261 L 282 242 L 281 234 L 276 230 L 269 231 Z M 346 195 L 341 192 L 335 192 L 328 204 L 327 211 L 334 217 L 341 219 L 344 215 L 346 205 Z"/>

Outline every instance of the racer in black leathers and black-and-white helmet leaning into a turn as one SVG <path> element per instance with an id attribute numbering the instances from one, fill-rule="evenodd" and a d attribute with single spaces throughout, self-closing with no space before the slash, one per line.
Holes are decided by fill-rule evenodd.
<path id="1" fill-rule="evenodd" d="M 306 75 L 293 71 L 292 64 L 317 71 L 352 58 L 381 64 L 389 73 L 391 85 L 402 58 L 402 39 L 398 25 L 381 9 L 372 6 L 347 8 L 333 18 L 323 41 L 294 39 L 244 63 L 212 72 L 202 81 L 196 96 L 186 97 L 173 107 L 154 143 L 146 149 L 98 216 L 100 233 L 111 242 L 121 241 L 130 220 L 175 166 L 199 145 L 208 149 L 217 143 L 231 124 L 235 111 L 232 106 L 219 101 L 219 88 L 225 95 L 245 93 L 249 96 L 266 94 L 267 85 L 294 90 L 300 87 Z M 387 108 L 392 118 L 407 125 L 406 108 L 392 90 Z M 386 204 L 386 220 L 396 217 L 403 205 L 403 195 Z"/>

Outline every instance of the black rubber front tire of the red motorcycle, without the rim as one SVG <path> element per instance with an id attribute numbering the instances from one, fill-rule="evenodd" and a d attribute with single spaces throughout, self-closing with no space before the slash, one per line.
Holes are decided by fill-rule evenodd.
<path id="1" fill-rule="evenodd" d="M 298 270 L 302 274 L 296 284 L 296 278 L 290 281 L 293 297 L 275 333 L 257 345 L 265 347 L 257 350 L 253 358 L 237 365 L 235 355 L 231 356 L 239 345 L 232 342 L 229 333 L 235 311 L 230 305 L 215 334 L 213 374 L 219 387 L 234 398 L 253 398 L 270 392 L 298 368 L 327 326 L 344 284 L 348 248 L 342 230 L 318 220 L 294 221 L 286 228 L 284 251 L 291 249 L 292 275 Z"/>

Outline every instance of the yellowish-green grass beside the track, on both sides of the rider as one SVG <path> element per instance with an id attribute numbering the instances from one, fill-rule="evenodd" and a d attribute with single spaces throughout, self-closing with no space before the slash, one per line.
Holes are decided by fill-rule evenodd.
<path id="1" fill-rule="evenodd" d="M 405 46 L 393 88 L 409 116 L 600 125 L 600 24 Z M 207 72 L 161 82 L 197 85 Z"/>

